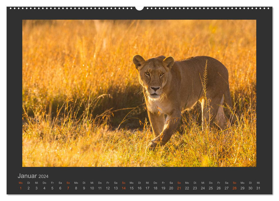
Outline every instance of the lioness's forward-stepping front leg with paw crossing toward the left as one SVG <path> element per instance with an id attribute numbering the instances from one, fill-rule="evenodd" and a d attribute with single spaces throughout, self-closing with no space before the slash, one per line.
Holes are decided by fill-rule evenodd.
<path id="1" fill-rule="evenodd" d="M 148 145 L 150 149 L 154 149 L 158 145 L 165 145 L 171 138 L 172 134 L 174 134 L 177 129 L 181 119 L 181 112 L 174 111 L 172 115 L 169 115 L 166 119 L 166 124 L 164 126 L 163 131 L 156 138 L 151 140 L 151 143 Z"/>

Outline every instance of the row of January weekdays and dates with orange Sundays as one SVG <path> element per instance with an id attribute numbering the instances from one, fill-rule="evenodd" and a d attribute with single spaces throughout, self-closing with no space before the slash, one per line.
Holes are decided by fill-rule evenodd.
<path id="1" fill-rule="evenodd" d="M 187 192 L 195 191 L 260 191 L 259 181 L 19 181 L 20 191 L 100 191 L 125 192 Z"/>

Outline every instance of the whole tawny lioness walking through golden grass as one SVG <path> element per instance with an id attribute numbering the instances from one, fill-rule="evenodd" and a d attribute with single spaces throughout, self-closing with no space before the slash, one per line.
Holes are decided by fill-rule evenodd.
<path id="1" fill-rule="evenodd" d="M 145 60 L 135 55 L 133 63 L 156 136 L 149 148 L 166 144 L 180 123 L 181 113 L 198 101 L 202 107 L 203 128 L 215 122 L 224 129 L 227 118 L 221 105 L 224 101 L 231 107 L 232 103 L 228 70 L 220 61 L 207 56 L 174 61 L 173 57 L 163 55 Z"/>

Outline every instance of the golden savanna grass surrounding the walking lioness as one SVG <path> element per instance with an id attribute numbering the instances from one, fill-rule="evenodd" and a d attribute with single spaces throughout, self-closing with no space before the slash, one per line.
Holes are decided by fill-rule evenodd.
<path id="1" fill-rule="evenodd" d="M 256 166 L 255 20 L 23 21 L 22 166 Z M 132 57 L 207 55 L 229 71 L 238 125 L 201 129 L 197 105 L 164 148 Z"/>

